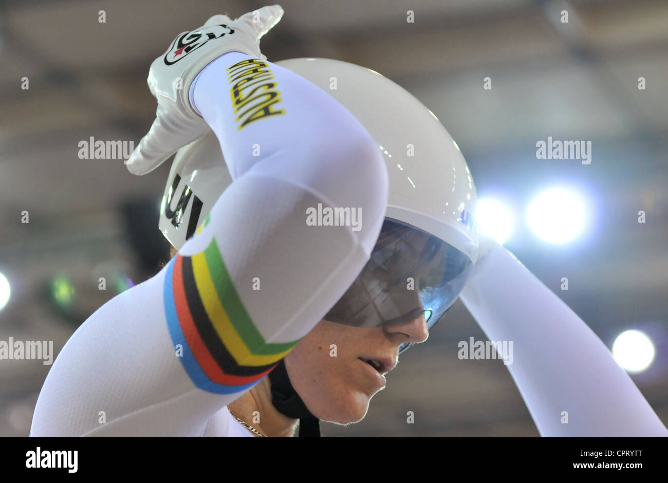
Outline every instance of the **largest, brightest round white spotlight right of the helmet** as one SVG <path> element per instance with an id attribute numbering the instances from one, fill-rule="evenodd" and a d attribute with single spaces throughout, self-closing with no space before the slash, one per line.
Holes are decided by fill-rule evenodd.
<path id="1" fill-rule="evenodd" d="M 550 188 L 531 201 L 526 218 L 542 240 L 566 243 L 585 228 L 587 208 L 578 194 L 564 188 Z"/>

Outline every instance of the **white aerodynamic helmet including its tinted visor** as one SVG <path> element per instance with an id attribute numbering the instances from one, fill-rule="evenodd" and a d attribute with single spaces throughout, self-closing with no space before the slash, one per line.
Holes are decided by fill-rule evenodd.
<path id="1" fill-rule="evenodd" d="M 411 267 L 409 271 L 399 269 L 397 281 L 403 277 L 405 286 L 405 275 L 422 273 L 415 276 L 422 305 L 432 306 L 425 309 L 433 315 L 428 317 L 431 327 L 454 303 L 478 257 L 478 228 L 473 216 L 478 201 L 476 185 L 457 144 L 420 101 L 371 69 L 333 59 L 288 59 L 277 64 L 305 77 L 343 104 L 377 142 L 387 164 L 386 222 L 377 243 L 379 247 L 384 240 L 382 248 L 374 251 L 349 293 L 325 319 L 367 327 L 405 315 L 407 300 L 403 305 L 395 296 L 392 303 L 386 300 L 391 298 L 387 297 L 387 285 L 394 281 L 380 281 L 373 273 L 381 265 L 386 269 L 387 257 L 396 257 L 399 245 L 413 243 L 422 252 L 417 259 L 406 255 L 394 260 L 399 267 Z M 194 234 L 231 182 L 213 132 L 177 152 L 159 223 L 162 234 L 176 249 Z M 410 252 L 415 253 L 414 247 Z M 438 271 L 447 275 L 434 279 Z M 379 285 L 382 300 L 371 295 Z"/>

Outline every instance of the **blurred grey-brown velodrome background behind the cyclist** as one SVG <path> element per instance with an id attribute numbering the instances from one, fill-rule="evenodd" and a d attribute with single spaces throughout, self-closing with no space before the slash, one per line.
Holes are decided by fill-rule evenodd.
<path id="1" fill-rule="evenodd" d="M 608 347 L 629 329 L 651 338 L 655 358 L 632 377 L 668 424 L 668 2 L 281 5 L 283 20 L 261 44 L 269 60 L 358 63 L 424 102 L 460 146 L 480 196 L 502 199 L 517 214 L 506 247 Z M 168 259 L 157 224 L 170 163 L 133 176 L 122 160 L 79 159 L 77 144 L 90 136 L 138 143 L 156 108 L 146 86 L 152 60 L 210 15 L 234 18 L 261 6 L 0 1 L 0 272 L 11 287 L 0 340 L 49 340 L 57 352 L 92 312 Z M 491 90 L 482 88 L 484 77 Z M 591 140 L 591 164 L 536 159 L 536 141 L 547 136 Z M 532 196 L 554 185 L 579 190 L 592 215 L 562 245 L 540 240 L 523 216 Z M 560 290 L 562 277 L 568 291 Z M 402 355 L 363 422 L 325 424 L 323 433 L 538 436 L 501 361 L 458 359 L 457 343 L 469 337 L 484 340 L 458 301 L 427 343 Z M 49 367 L 0 360 L 0 436 L 28 434 Z M 415 424 L 406 424 L 407 411 Z"/>

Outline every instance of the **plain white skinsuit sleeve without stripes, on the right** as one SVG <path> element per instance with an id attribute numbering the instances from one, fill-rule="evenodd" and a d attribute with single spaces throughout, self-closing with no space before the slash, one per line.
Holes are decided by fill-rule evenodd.
<path id="1" fill-rule="evenodd" d="M 542 436 L 668 436 L 603 341 L 500 245 L 462 301 L 490 341 L 514 343 L 508 370 Z"/>

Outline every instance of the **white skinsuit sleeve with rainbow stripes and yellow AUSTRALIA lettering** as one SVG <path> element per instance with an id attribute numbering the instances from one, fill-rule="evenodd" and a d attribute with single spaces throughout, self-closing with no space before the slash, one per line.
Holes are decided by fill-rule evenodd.
<path id="1" fill-rule="evenodd" d="M 232 184 L 158 275 L 67 341 L 31 436 L 210 436 L 208 422 L 289 353 L 369 259 L 387 171 L 350 112 L 303 77 L 238 52 L 210 63 L 190 95 Z M 359 230 L 309 226 L 307 208 L 319 203 L 361 208 Z"/>

